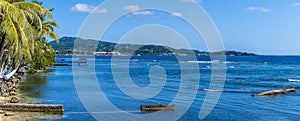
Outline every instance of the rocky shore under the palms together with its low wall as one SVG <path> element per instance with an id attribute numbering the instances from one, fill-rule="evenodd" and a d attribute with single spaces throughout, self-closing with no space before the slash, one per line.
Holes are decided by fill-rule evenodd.
<path id="1" fill-rule="evenodd" d="M 61 110 L 63 111 L 62 106 L 54 106 L 53 109 L 51 108 L 53 105 L 45 107 L 47 104 L 41 104 L 41 108 L 39 108 L 38 100 L 27 97 L 23 94 L 23 92 L 18 92 L 22 90 L 22 87 L 20 87 L 23 85 L 22 83 L 25 83 L 27 80 L 27 77 L 24 76 L 25 71 L 26 68 L 21 67 L 9 80 L 0 79 L 0 105 L 2 105 L 2 107 L 11 106 L 9 110 L 0 108 L 0 121 L 49 120 L 62 118 L 62 113 L 52 113 L 52 111 L 56 110 L 57 107 L 61 107 L 57 109 L 59 110 L 57 112 L 61 112 Z M 24 108 L 24 106 L 26 108 Z M 28 109 L 28 111 L 25 109 Z M 32 111 L 33 109 L 36 111 Z M 49 110 L 50 113 L 49 111 L 47 112 L 47 110 Z"/>

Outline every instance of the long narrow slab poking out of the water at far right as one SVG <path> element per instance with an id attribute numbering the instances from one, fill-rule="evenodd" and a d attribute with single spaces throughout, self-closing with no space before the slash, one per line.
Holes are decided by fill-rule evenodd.
<path id="1" fill-rule="evenodd" d="M 251 96 L 277 96 L 277 95 L 281 95 L 281 94 L 287 94 L 290 92 L 296 92 L 296 89 L 291 88 L 291 89 L 286 89 L 286 90 L 270 90 L 270 91 L 265 91 L 265 92 L 261 92 L 258 94 L 253 94 Z"/>

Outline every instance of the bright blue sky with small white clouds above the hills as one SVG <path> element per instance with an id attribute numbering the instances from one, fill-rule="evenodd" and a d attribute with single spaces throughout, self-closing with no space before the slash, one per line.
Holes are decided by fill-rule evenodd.
<path id="1" fill-rule="evenodd" d="M 226 50 L 300 55 L 300 0 L 160 0 L 157 3 L 182 12 L 143 9 L 151 5 L 141 3 L 142 0 L 128 4 L 126 0 L 41 1 L 47 8 L 55 9 L 54 20 L 60 24 L 55 31 L 60 37 L 80 36 L 117 43 L 166 44 L 174 48 L 207 50 L 203 36 L 185 19 L 201 13 L 191 9 L 190 6 L 196 4 L 214 22 Z M 105 6 L 104 3 L 113 4 Z M 113 17 L 116 11 L 126 14 L 113 21 L 102 38 L 99 38 L 100 33 L 95 37 L 79 34 L 87 19 L 99 16 L 103 19 L 97 20 L 95 27 L 85 33 L 97 34 L 95 29 L 103 27 L 100 24 Z"/>

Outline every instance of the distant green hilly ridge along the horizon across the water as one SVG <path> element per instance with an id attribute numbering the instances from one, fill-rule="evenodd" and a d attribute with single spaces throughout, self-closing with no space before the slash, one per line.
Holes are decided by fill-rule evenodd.
<path id="1" fill-rule="evenodd" d="M 84 42 L 81 44 L 81 48 L 78 50 L 73 50 L 75 41 Z M 91 46 L 98 44 L 96 52 L 103 54 L 118 53 L 119 55 L 140 55 L 140 56 L 188 56 L 188 55 L 198 55 L 198 56 L 209 56 L 221 55 L 225 52 L 226 55 L 230 56 L 256 56 L 254 53 L 237 52 L 237 51 L 220 51 L 220 52 L 206 52 L 199 50 L 188 50 L 188 49 L 174 49 L 167 46 L 161 45 L 140 45 L 140 44 L 117 44 L 105 41 L 98 41 L 92 39 L 82 39 L 76 37 L 62 37 L 59 39 L 59 43 L 55 41 L 49 42 L 49 44 L 54 48 L 54 50 L 59 55 L 65 54 L 84 54 L 91 55 L 95 54 L 95 50 L 90 50 Z M 94 52 L 94 53 L 92 53 Z M 104 54 L 105 55 L 105 54 Z"/>

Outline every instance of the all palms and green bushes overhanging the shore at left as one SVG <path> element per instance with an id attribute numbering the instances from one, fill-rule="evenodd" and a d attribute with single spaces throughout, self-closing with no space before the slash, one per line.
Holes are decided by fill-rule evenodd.
<path id="1" fill-rule="evenodd" d="M 41 2 L 0 0 L 0 77 L 8 80 L 22 66 L 30 71 L 45 69 L 55 62 L 46 37 L 58 40 L 51 11 Z"/>

